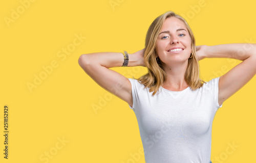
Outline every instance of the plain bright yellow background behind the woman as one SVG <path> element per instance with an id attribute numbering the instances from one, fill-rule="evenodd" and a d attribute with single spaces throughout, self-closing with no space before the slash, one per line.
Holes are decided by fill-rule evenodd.
<path id="1" fill-rule="evenodd" d="M 145 162 L 143 154 L 137 160 L 130 155 L 142 148 L 134 112 L 84 73 L 78 58 L 83 53 L 133 53 L 144 48 L 148 27 L 166 11 L 186 17 L 196 45 L 256 43 L 255 2 L 249 0 L 25 2 L 0 5 L 0 162 Z M 13 14 L 17 10 L 20 14 Z M 82 36 L 80 42 L 76 35 Z M 63 53 L 65 48 L 72 52 Z M 58 66 L 46 73 L 42 67 L 52 62 Z M 201 77 L 209 81 L 240 62 L 204 59 L 199 62 Z M 147 72 L 144 67 L 112 69 L 130 78 Z M 34 84 L 39 75 L 44 79 L 29 89 L 28 83 Z M 217 112 L 212 162 L 255 161 L 255 84 L 253 77 Z M 5 105 L 9 106 L 8 160 L 3 154 Z M 95 112 L 95 106 L 101 109 Z M 239 147 L 231 150 L 228 143 Z"/>

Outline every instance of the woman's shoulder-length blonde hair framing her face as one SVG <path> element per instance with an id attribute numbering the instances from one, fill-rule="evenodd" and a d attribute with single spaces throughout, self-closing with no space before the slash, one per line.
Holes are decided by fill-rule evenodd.
<path id="1" fill-rule="evenodd" d="M 167 79 L 166 72 L 164 71 L 161 62 L 157 61 L 156 59 L 156 40 L 162 29 L 164 20 L 172 16 L 180 19 L 184 23 L 191 38 L 191 53 L 193 57 L 188 59 L 188 65 L 184 76 L 185 81 L 192 90 L 202 87 L 203 83 L 205 83 L 202 79 L 199 78 L 199 64 L 196 56 L 196 43 L 192 30 L 184 18 L 175 14 L 173 11 L 168 11 L 158 16 L 152 22 L 150 28 L 147 31 L 145 40 L 144 64 L 148 69 L 148 73 L 139 78 L 135 78 L 141 82 L 145 88 L 150 88 L 150 92 L 154 91 L 153 95 L 157 93 L 160 86 L 162 86 L 162 84 Z"/>

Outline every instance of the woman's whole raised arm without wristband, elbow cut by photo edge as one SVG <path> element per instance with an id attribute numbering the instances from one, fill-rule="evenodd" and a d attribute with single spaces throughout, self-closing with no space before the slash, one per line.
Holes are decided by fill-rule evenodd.
<path id="1" fill-rule="evenodd" d="M 256 74 L 256 44 L 232 43 L 196 47 L 199 58 L 232 58 L 241 60 L 219 80 L 219 104 L 240 90 Z M 203 52 L 202 52 L 203 51 Z M 198 55 L 198 54 L 197 54 Z"/>

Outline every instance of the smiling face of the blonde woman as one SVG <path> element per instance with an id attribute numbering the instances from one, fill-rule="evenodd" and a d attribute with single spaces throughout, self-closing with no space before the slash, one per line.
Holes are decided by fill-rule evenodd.
<path id="1" fill-rule="evenodd" d="M 188 60 L 191 53 L 191 39 L 184 23 L 176 17 L 164 20 L 156 42 L 157 56 L 164 64 Z"/>

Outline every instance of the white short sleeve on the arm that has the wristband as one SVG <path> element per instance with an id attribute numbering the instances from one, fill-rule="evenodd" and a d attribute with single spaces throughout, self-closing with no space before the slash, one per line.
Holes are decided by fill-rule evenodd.
<path id="1" fill-rule="evenodd" d="M 128 78 L 128 79 L 130 80 L 131 85 L 132 85 L 132 96 L 133 96 L 133 106 L 129 105 L 129 107 L 132 110 L 134 110 L 134 108 L 136 108 L 137 104 L 138 104 L 139 92 L 140 92 L 140 89 L 141 89 L 141 84 L 136 79 L 133 79 L 133 78 Z"/>

